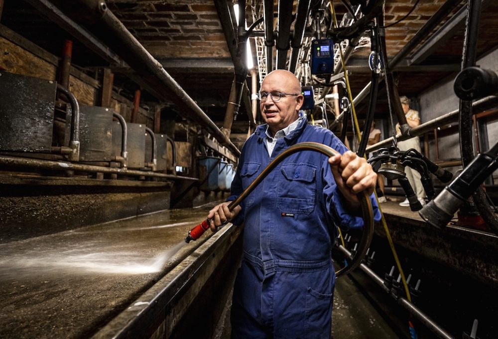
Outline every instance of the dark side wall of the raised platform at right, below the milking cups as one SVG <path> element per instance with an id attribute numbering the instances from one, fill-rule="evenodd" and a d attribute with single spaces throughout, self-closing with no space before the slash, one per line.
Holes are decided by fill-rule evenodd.
<path id="1" fill-rule="evenodd" d="M 397 245 L 498 287 L 497 235 L 459 226 L 439 230 L 424 222 L 417 212 L 400 207 L 397 202 L 383 203 L 381 208 Z M 385 237 L 381 225 L 376 225 L 375 233 Z"/>

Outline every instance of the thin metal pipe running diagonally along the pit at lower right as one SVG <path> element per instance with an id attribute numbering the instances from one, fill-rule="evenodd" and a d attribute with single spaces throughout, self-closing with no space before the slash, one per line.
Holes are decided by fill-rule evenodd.
<path id="1" fill-rule="evenodd" d="M 347 256 L 351 257 L 351 252 L 348 251 L 346 248 L 339 245 L 339 249 Z M 389 289 L 384 285 L 384 280 L 380 278 L 377 274 L 375 274 L 375 272 L 373 272 L 373 270 L 371 270 L 370 267 L 368 267 L 365 264 L 360 264 L 360 268 L 370 278 L 372 278 L 373 281 L 377 283 L 377 285 L 380 286 L 380 288 L 382 288 L 382 290 L 389 293 Z M 433 322 L 425 313 L 423 313 L 418 307 L 410 303 L 405 298 L 398 298 L 397 302 L 399 305 L 408 310 L 411 315 L 417 318 L 417 320 L 419 320 L 422 324 L 424 324 L 429 330 L 431 330 L 438 338 L 453 339 L 453 337 L 450 334 L 448 334 L 448 332 L 446 332 L 442 327 Z"/>

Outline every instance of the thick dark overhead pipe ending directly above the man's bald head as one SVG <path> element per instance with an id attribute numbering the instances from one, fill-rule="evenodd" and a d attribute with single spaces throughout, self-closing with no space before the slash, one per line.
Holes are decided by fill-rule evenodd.
<path id="1" fill-rule="evenodd" d="M 290 25 L 292 24 L 293 1 L 278 1 L 277 69 L 285 69 L 287 51 L 290 48 Z"/>

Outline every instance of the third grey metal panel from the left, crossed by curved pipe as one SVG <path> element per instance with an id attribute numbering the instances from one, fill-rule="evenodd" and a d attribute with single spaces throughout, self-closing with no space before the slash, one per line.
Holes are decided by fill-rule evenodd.
<path id="1" fill-rule="evenodd" d="M 128 168 L 141 169 L 145 162 L 145 125 L 126 123 L 128 127 Z M 113 155 L 121 155 L 121 124 L 113 123 Z"/>

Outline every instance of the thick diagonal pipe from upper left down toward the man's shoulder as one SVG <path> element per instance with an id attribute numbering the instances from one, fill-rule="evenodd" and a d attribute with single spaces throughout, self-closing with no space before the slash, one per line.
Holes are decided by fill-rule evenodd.
<path id="1" fill-rule="evenodd" d="M 101 40 L 109 45 L 132 67 L 160 98 L 173 101 L 196 123 L 210 132 L 216 140 L 235 155 L 240 150 L 223 134 L 192 98 L 178 85 L 168 72 L 126 29 L 103 0 L 68 0 L 62 4 L 74 20 L 84 21 Z"/>

